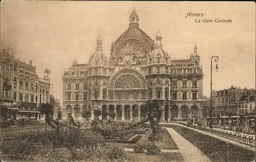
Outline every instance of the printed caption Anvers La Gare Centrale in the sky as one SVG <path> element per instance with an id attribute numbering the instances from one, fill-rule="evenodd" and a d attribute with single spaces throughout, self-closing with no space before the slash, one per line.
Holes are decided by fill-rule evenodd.
<path id="1" fill-rule="evenodd" d="M 221 18 L 215 18 L 215 19 L 200 19 L 199 17 L 203 17 L 204 13 L 191 13 L 188 12 L 186 13 L 185 18 L 187 17 L 198 17 L 195 19 L 195 22 L 232 22 L 232 19 L 228 18 L 228 19 L 221 19 Z"/>

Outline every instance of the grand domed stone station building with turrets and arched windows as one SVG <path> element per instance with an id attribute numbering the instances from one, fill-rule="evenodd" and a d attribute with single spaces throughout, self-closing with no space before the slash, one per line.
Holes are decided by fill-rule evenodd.
<path id="1" fill-rule="evenodd" d="M 161 103 L 163 121 L 202 117 L 204 75 L 197 46 L 188 59 L 172 59 L 159 31 L 156 40 L 145 34 L 135 10 L 129 20 L 129 29 L 111 44 L 110 58 L 99 35 L 88 63 L 75 59 L 64 72 L 63 119 L 81 119 L 89 108 L 116 112 L 117 120 L 141 120 L 145 103 L 153 99 Z"/>

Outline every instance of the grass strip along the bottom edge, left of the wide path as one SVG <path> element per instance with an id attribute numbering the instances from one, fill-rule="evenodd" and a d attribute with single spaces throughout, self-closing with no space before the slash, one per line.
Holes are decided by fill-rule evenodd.
<path id="1" fill-rule="evenodd" d="M 160 152 L 156 155 L 146 153 L 126 152 L 129 156 L 128 161 L 184 161 L 181 153 Z"/>

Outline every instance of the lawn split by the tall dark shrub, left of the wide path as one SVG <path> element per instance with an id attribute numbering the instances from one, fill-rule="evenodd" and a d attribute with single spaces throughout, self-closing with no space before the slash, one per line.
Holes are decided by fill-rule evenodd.
<path id="1" fill-rule="evenodd" d="M 175 144 L 172 136 L 170 136 L 170 134 L 168 133 L 168 131 L 163 128 L 164 132 L 163 132 L 163 142 L 162 144 L 157 144 L 159 146 L 160 149 L 170 149 L 170 150 L 178 150 L 177 145 Z M 148 130 L 145 134 L 140 134 L 142 137 L 136 142 L 140 142 L 140 143 L 147 143 L 147 137 L 150 134 L 152 130 Z M 133 148 L 133 146 L 135 144 L 122 144 L 124 148 Z"/>

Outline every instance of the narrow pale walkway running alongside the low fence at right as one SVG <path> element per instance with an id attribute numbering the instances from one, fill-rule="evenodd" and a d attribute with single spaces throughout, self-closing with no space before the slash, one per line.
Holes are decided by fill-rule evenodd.
<path id="1" fill-rule="evenodd" d="M 237 145 L 237 146 L 240 146 L 240 147 L 243 147 L 243 148 L 246 148 L 246 149 L 255 151 L 255 147 L 253 147 L 253 146 L 248 146 L 248 145 L 245 145 L 245 144 L 241 144 L 241 143 L 239 143 L 239 142 L 230 140 L 230 139 L 228 139 L 228 138 L 225 138 L 225 137 L 222 137 L 222 136 L 219 136 L 219 135 L 215 135 L 215 134 L 212 134 L 212 133 L 208 133 L 208 132 L 205 132 L 205 131 L 203 131 L 203 130 L 199 130 L 199 129 L 187 127 L 187 126 L 184 126 L 184 125 L 178 124 L 178 123 L 165 123 L 165 124 L 179 125 L 179 126 L 182 126 L 182 127 L 186 127 L 186 128 L 188 128 L 188 129 L 195 130 L 195 131 L 200 132 L 200 133 L 202 133 L 202 134 L 206 134 L 206 135 L 210 135 L 210 136 L 212 136 L 212 137 L 218 138 L 219 140 L 222 140 L 222 141 L 225 141 L 225 142 L 228 142 L 228 143 L 231 143 L 231 144 L 234 144 L 234 145 Z"/>

